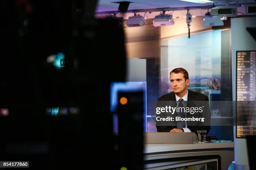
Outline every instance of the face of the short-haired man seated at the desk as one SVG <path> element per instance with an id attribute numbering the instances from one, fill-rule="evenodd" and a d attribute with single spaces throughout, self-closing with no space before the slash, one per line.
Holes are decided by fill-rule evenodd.
<path id="1" fill-rule="evenodd" d="M 179 72 L 179 73 L 172 72 L 170 76 L 170 80 L 171 80 L 172 91 L 175 94 L 187 92 L 189 79 L 185 80 L 184 74 L 182 72 Z"/>

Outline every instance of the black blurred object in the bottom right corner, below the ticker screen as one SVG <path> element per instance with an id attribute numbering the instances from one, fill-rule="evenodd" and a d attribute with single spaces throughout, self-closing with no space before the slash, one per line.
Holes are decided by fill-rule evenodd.
<path id="1" fill-rule="evenodd" d="M 250 170 L 256 170 L 255 153 L 256 153 L 256 136 L 246 136 L 247 153 Z"/>

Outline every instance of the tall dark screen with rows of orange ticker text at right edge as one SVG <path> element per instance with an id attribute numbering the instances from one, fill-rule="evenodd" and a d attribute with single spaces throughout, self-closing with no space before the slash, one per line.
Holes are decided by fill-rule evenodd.
<path id="1" fill-rule="evenodd" d="M 256 135 L 256 50 L 236 52 L 236 138 Z"/>

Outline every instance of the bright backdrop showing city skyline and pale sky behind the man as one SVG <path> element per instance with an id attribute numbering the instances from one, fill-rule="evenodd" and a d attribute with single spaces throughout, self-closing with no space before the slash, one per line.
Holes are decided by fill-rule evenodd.
<path id="1" fill-rule="evenodd" d="M 220 94 L 221 30 L 161 41 L 160 95 L 172 92 L 169 73 L 182 67 L 189 73 L 189 90 L 211 98 Z"/>

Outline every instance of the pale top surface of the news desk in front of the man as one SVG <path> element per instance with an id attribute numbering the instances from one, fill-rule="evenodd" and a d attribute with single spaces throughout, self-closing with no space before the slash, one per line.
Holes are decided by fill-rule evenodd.
<path id="1" fill-rule="evenodd" d="M 193 143 L 193 144 L 144 144 L 144 153 L 159 153 L 179 150 L 201 150 L 234 148 L 234 143 Z"/>

